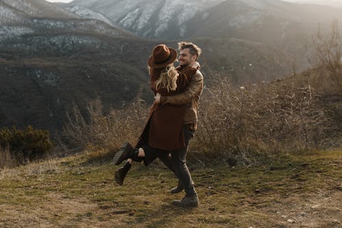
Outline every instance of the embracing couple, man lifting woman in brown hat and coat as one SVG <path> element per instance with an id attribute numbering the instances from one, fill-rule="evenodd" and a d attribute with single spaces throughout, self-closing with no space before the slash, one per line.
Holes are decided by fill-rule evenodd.
<path id="1" fill-rule="evenodd" d="M 126 164 L 115 172 L 122 185 L 133 162 L 145 165 L 159 158 L 178 178 L 179 184 L 170 193 L 185 190 L 185 197 L 173 200 L 180 207 L 197 207 L 198 196 L 186 164 L 187 147 L 197 127 L 198 100 L 203 88 L 203 76 L 197 62 L 201 49 L 192 42 L 179 42 L 179 66 L 174 66 L 176 50 L 165 44 L 153 48 L 148 59 L 150 87 L 155 101 L 150 108 L 147 124 L 132 147 L 123 143 L 114 156 L 115 165 Z"/>

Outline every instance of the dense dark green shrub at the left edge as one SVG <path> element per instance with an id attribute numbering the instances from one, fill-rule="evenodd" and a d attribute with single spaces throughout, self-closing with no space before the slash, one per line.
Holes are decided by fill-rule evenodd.
<path id="1" fill-rule="evenodd" d="M 35 130 L 27 126 L 23 130 L 2 128 L 0 130 L 0 145 L 8 148 L 12 159 L 24 164 L 27 161 L 40 158 L 53 147 L 47 130 Z"/>

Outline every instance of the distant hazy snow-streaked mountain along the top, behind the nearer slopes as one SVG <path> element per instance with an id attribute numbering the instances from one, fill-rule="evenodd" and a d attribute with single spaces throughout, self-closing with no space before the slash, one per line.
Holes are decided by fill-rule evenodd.
<path id="1" fill-rule="evenodd" d="M 143 38 L 228 37 L 286 46 L 342 20 L 342 10 L 274 0 L 75 0 Z"/>

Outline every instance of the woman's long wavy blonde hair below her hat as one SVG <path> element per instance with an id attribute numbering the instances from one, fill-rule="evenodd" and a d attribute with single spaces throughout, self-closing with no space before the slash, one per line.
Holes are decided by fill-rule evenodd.
<path id="1" fill-rule="evenodd" d="M 156 89 L 163 89 L 166 88 L 168 91 L 174 91 L 177 88 L 176 81 L 178 79 L 179 73 L 174 68 L 173 63 L 166 66 L 166 68 L 163 68 L 161 70 L 161 74 L 159 76 L 159 79 L 156 81 Z"/>

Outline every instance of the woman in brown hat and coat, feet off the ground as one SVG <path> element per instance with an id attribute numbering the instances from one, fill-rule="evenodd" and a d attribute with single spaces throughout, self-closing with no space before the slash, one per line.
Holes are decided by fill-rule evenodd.
<path id="1" fill-rule="evenodd" d="M 176 50 L 168 48 L 165 44 L 159 44 L 153 48 L 153 53 L 148 59 L 150 73 L 150 87 L 155 94 L 170 96 L 182 92 L 187 87 L 192 75 L 199 66 L 195 63 L 192 68 L 185 68 L 178 72 L 174 68 Z M 153 104 L 148 115 L 148 122 L 140 136 L 137 146 L 133 149 L 129 143 L 124 143 L 119 152 L 114 156 L 115 165 L 123 160 L 128 162 L 115 173 L 115 180 L 122 184 L 124 177 L 131 168 L 132 160 L 148 165 L 159 158 L 172 171 L 172 165 L 168 154 L 174 149 L 185 147 L 183 132 L 183 115 L 185 105 Z"/>

